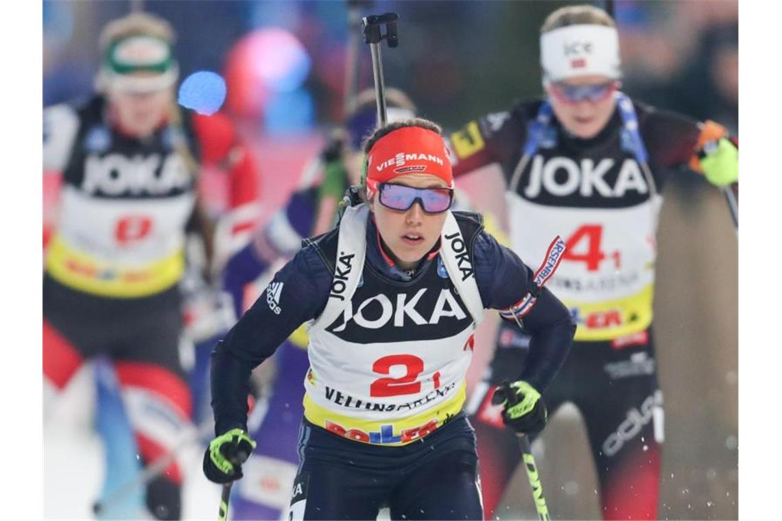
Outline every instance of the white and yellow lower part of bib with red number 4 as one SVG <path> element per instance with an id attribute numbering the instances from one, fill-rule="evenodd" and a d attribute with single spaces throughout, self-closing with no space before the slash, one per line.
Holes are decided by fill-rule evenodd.
<path id="1" fill-rule="evenodd" d="M 655 228 L 662 198 L 623 208 L 539 204 L 508 193 L 511 243 L 540 259 L 554 234 L 566 244 L 548 289 L 572 312 L 576 341 L 609 341 L 651 324 Z"/>

